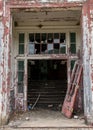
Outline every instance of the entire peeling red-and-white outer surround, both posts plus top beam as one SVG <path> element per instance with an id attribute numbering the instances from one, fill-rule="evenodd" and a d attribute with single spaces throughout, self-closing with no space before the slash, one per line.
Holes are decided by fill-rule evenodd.
<path id="1" fill-rule="evenodd" d="M 0 0 L 0 123 L 6 123 L 9 108 L 9 92 L 12 82 L 16 77 L 11 78 L 11 8 L 31 8 L 31 7 L 77 7 L 82 6 L 86 0 Z M 45 5 L 45 3 L 47 4 Z M 63 4 L 63 2 L 65 4 Z M 71 2 L 68 4 L 68 2 Z M 73 3 L 74 2 L 74 3 Z M 79 3 L 80 2 L 80 3 Z M 33 3 L 33 4 L 32 4 Z M 40 4 L 38 4 L 40 3 Z M 43 3 L 43 4 L 41 4 Z M 50 4 L 49 4 L 50 3 Z M 53 4 L 51 4 L 53 3 Z M 61 4 L 60 4 L 61 3 Z M 83 63 L 84 63 L 84 99 L 85 116 L 89 122 L 93 123 L 93 0 L 88 0 L 83 8 Z M 18 6 L 20 5 L 20 6 Z M 91 11 L 90 11 L 91 10 Z M 90 15 L 92 14 L 92 15 Z M 90 17 L 91 16 L 91 17 Z M 27 76 L 27 73 L 26 75 Z M 14 85 L 15 86 L 15 85 Z M 26 96 L 26 95 L 25 95 Z"/>

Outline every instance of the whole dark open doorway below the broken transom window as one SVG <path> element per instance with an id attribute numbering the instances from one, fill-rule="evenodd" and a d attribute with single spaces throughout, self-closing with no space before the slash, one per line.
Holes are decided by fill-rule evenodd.
<path id="1" fill-rule="evenodd" d="M 66 89 L 67 61 L 28 60 L 28 107 L 61 110 Z"/>

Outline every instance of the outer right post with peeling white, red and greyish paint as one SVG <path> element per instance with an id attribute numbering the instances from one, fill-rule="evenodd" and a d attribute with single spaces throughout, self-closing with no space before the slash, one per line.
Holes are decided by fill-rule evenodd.
<path id="1" fill-rule="evenodd" d="M 82 30 L 84 111 L 87 123 L 93 124 L 93 0 L 83 6 Z"/>

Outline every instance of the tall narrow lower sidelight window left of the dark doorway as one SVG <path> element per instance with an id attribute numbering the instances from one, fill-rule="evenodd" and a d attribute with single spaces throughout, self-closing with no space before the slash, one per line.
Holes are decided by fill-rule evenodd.
<path id="1" fill-rule="evenodd" d="M 18 93 L 23 93 L 24 61 L 18 61 Z"/>

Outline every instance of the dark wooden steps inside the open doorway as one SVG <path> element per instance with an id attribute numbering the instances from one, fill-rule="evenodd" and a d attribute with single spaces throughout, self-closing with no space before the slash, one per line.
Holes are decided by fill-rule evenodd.
<path id="1" fill-rule="evenodd" d="M 36 106 L 42 108 L 59 109 L 60 104 L 64 101 L 66 94 L 66 81 L 30 81 L 28 85 L 28 104 L 34 105 L 38 100 Z"/>

